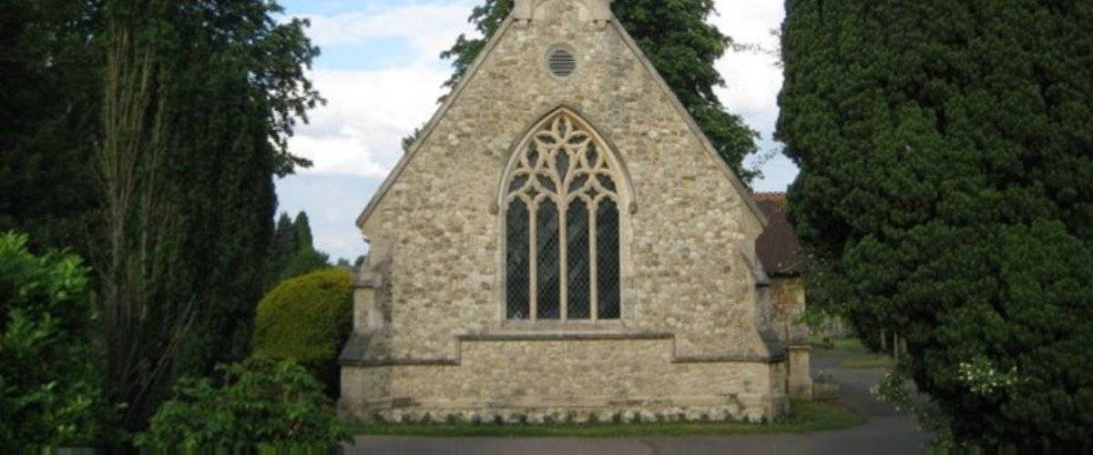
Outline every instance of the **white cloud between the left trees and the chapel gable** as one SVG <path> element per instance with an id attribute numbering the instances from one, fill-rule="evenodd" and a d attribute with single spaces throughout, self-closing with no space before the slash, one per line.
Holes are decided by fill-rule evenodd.
<path id="1" fill-rule="evenodd" d="M 386 177 L 402 155 L 402 137 L 437 108 L 440 85 L 450 75 L 437 56 L 468 32 L 471 4 L 456 0 L 378 12 L 301 14 L 312 21 L 308 35 L 321 48 L 390 47 L 411 56 L 401 67 L 312 73 L 329 104 L 310 112 L 310 123 L 290 142 L 293 152 L 315 161 L 303 172 Z M 390 39 L 404 46 L 392 46 Z"/>

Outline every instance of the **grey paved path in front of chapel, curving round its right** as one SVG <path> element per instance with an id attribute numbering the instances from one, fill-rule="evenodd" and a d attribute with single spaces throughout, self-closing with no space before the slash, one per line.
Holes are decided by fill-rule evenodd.
<path id="1" fill-rule="evenodd" d="M 915 420 L 869 395 L 882 371 L 835 368 L 814 358 L 813 372 L 831 373 L 842 387 L 841 403 L 869 417 L 865 426 L 819 433 L 747 434 L 640 439 L 568 438 L 403 438 L 361 436 L 348 454 L 919 454 L 926 434 Z"/>

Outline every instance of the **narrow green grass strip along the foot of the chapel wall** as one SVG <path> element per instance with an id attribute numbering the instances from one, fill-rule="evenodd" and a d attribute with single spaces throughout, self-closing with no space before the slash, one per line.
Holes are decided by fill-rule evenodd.
<path id="1" fill-rule="evenodd" d="M 857 427 L 866 418 L 826 403 L 794 402 L 792 414 L 772 423 L 647 422 L 586 424 L 355 424 L 353 434 L 396 436 L 628 438 L 710 434 L 803 433 Z"/>

